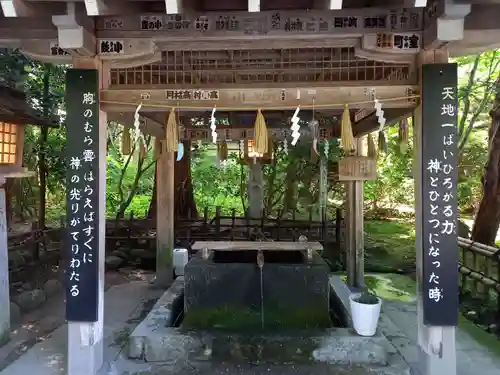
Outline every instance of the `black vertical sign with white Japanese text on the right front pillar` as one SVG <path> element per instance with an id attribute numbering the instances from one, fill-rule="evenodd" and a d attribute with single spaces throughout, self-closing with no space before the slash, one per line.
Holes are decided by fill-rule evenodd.
<path id="1" fill-rule="evenodd" d="M 424 324 L 458 324 L 457 65 L 422 67 Z"/>

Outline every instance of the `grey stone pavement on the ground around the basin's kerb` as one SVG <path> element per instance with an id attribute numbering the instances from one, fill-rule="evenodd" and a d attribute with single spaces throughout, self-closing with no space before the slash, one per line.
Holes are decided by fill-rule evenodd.
<path id="1" fill-rule="evenodd" d="M 327 365 L 236 365 L 210 362 L 196 367 L 180 363 L 151 365 L 125 358 L 124 346 L 132 329 L 144 317 L 145 305 L 158 298 L 161 291 L 151 290 L 147 282 L 131 282 L 114 286 L 105 297 L 105 353 L 106 365 L 99 375 L 171 375 L 181 370 L 183 375 L 405 375 L 391 368 L 338 368 Z M 416 362 L 416 306 L 413 303 L 384 301 L 380 328 L 391 341 L 394 358 L 412 365 Z M 457 332 L 459 375 L 499 375 L 500 359 L 477 343 L 467 332 Z M 66 325 L 59 327 L 44 341 L 29 349 L 0 375 L 65 375 L 66 367 Z M 179 367 L 180 366 L 180 367 Z M 176 371 L 177 370 L 177 371 Z M 445 374 L 444 374 L 445 375 Z"/>

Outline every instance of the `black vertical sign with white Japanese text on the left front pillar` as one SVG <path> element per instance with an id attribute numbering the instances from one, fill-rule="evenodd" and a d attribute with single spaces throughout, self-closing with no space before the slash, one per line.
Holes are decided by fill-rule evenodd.
<path id="1" fill-rule="evenodd" d="M 101 208 L 97 70 L 70 69 L 66 73 L 66 132 L 66 319 L 96 322 Z"/>

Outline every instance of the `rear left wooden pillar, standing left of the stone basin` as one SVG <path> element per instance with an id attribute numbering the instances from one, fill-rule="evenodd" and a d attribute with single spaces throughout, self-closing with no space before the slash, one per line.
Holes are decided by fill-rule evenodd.
<path id="1" fill-rule="evenodd" d="M 156 281 L 166 288 L 173 278 L 172 254 L 175 244 L 174 153 L 167 152 L 165 141 L 156 161 Z"/>

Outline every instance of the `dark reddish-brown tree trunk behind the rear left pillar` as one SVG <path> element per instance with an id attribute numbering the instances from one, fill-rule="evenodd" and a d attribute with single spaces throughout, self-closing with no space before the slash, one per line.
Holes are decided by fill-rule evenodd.
<path id="1" fill-rule="evenodd" d="M 198 217 L 191 182 L 191 142 L 184 141 L 184 157 L 175 162 L 175 216 L 179 218 Z M 148 217 L 156 217 L 156 173 Z"/>

